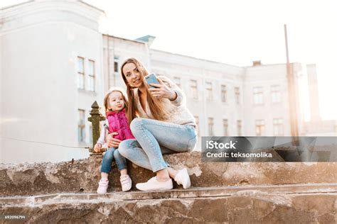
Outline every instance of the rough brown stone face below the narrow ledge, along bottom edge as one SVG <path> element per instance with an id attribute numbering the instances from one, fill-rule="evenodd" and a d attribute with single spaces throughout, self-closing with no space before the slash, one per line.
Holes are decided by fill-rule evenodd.
<path id="1" fill-rule="evenodd" d="M 1 204 L 0 214 L 26 215 L 28 223 L 336 223 L 336 199 L 336 193 L 237 191 L 215 197 Z"/>

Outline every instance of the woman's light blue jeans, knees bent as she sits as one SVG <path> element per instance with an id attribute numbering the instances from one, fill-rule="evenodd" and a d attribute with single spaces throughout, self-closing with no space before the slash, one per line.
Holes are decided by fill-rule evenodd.
<path id="1" fill-rule="evenodd" d="M 177 125 L 146 118 L 134 118 L 130 124 L 136 139 L 119 144 L 119 153 L 139 167 L 157 172 L 168 167 L 164 154 L 191 152 L 198 140 L 192 125 Z"/>

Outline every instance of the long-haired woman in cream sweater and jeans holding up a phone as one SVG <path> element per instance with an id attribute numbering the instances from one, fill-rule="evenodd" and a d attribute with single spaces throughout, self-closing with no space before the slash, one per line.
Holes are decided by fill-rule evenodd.
<path id="1" fill-rule="evenodd" d="M 161 76 L 157 77 L 160 84 L 150 84 L 154 88 L 149 88 L 144 79 L 149 72 L 135 58 L 126 60 L 121 71 L 129 98 L 127 118 L 136 140 L 121 142 L 110 135 L 109 146 L 117 147 L 120 143 L 121 155 L 156 172 L 156 177 L 137 184 L 137 189 L 173 189 L 171 178 L 187 189 L 191 186 L 187 169 L 176 171 L 163 158 L 163 154 L 190 152 L 196 146 L 196 120 L 186 108 L 183 92 Z"/>

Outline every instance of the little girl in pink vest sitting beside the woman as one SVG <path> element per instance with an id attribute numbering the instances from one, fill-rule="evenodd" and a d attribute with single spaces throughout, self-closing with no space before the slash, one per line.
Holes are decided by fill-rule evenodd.
<path id="1" fill-rule="evenodd" d="M 100 152 L 102 147 L 107 147 L 107 135 L 112 133 L 114 138 L 119 140 L 134 139 L 131 133 L 127 117 L 125 116 L 127 110 L 127 99 L 119 89 L 109 91 L 104 98 L 104 106 L 106 111 L 105 124 L 102 125 L 101 135 L 94 147 L 95 152 Z M 111 171 L 112 160 L 116 160 L 119 172 L 121 173 L 120 181 L 122 191 L 129 191 L 132 186 L 132 181 L 127 174 L 127 160 L 119 154 L 117 148 L 109 147 L 102 159 L 101 179 L 98 183 L 98 194 L 107 193 L 107 186 L 109 181 L 107 179 Z"/>

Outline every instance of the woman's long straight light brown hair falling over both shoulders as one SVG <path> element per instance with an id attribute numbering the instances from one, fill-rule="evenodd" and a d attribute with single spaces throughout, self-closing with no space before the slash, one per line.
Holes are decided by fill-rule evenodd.
<path id="1" fill-rule="evenodd" d="M 127 78 L 125 77 L 125 74 L 123 72 L 124 65 L 127 65 L 128 63 L 133 63 L 137 67 L 141 75 L 141 82 L 144 84 L 144 86 L 146 86 L 146 89 L 147 89 L 146 100 L 147 100 L 147 103 L 149 103 L 149 108 L 150 108 L 152 116 L 154 116 L 156 120 L 164 121 L 166 119 L 164 105 L 162 101 L 160 101 L 159 99 L 156 99 L 154 96 L 151 95 L 151 92 L 149 91 L 149 87 L 144 79 L 144 77 L 146 77 L 146 75 L 148 75 L 149 72 L 146 70 L 144 65 L 141 64 L 139 60 L 137 60 L 134 57 L 131 57 L 127 59 L 125 62 L 123 62 L 122 67 L 121 67 L 122 78 L 124 80 L 125 85 L 127 86 L 127 97 L 129 99 L 129 103 L 128 103 L 129 110 L 127 110 L 127 119 L 129 123 L 131 123 L 131 121 L 134 118 L 137 118 L 138 111 L 137 111 L 136 101 L 134 99 L 133 89 L 135 87 L 129 85 L 129 83 L 127 82 Z"/>

